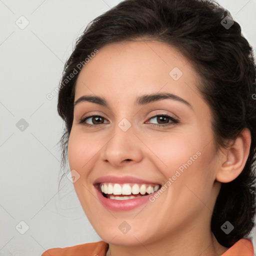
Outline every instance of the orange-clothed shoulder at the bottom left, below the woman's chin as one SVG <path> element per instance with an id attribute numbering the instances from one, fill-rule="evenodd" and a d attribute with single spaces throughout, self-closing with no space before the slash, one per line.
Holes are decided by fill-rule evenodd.
<path id="1" fill-rule="evenodd" d="M 41 256 L 104 256 L 108 243 L 104 241 L 89 242 L 65 248 L 52 248 L 44 251 Z"/>

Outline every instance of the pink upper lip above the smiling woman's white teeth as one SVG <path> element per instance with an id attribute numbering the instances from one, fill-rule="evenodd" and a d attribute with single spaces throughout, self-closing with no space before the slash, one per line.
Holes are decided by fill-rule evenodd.
<path id="1" fill-rule="evenodd" d="M 150 180 L 145 180 L 145 179 L 141 179 L 141 178 L 137 178 L 134 176 L 128 176 L 128 175 L 124 175 L 124 176 L 114 176 L 114 175 L 105 175 L 105 176 L 101 176 L 98 177 L 97 179 L 95 179 L 94 181 L 94 185 L 96 183 L 102 183 L 102 182 L 109 182 L 109 183 L 140 183 L 140 184 L 159 184 L 159 182 L 155 182 L 155 181 L 150 181 Z"/>

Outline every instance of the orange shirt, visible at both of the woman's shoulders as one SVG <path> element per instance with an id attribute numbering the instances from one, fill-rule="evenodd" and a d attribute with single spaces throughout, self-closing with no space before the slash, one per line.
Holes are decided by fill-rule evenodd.
<path id="1" fill-rule="evenodd" d="M 104 241 L 84 243 L 66 248 L 48 249 L 41 256 L 105 256 L 108 243 Z M 253 256 L 250 240 L 240 239 L 221 256 Z"/>

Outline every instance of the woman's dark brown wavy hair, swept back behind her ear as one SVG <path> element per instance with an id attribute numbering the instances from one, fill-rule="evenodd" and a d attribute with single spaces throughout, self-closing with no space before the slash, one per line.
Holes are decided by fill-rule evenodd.
<path id="1" fill-rule="evenodd" d="M 230 247 L 249 234 L 255 215 L 256 68 L 240 25 L 213 1 L 125 0 L 88 24 L 65 63 L 59 87 L 58 113 L 65 122 L 60 140 L 62 164 L 66 162 L 79 71 L 68 81 L 66 77 L 95 49 L 140 38 L 175 47 L 193 65 L 201 81 L 198 90 L 211 109 L 216 148 L 233 141 L 245 127 L 250 130 L 246 164 L 237 178 L 221 184 L 211 218 L 216 239 Z M 234 226 L 229 234 L 221 230 L 225 221 Z"/>

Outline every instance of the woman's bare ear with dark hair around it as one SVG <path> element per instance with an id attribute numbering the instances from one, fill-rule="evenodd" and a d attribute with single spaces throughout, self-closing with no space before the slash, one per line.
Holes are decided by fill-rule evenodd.
<path id="1" fill-rule="evenodd" d="M 244 128 L 235 141 L 224 149 L 224 153 L 219 156 L 217 181 L 230 182 L 241 173 L 249 155 L 250 142 L 250 131 L 248 128 Z"/>

